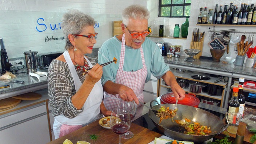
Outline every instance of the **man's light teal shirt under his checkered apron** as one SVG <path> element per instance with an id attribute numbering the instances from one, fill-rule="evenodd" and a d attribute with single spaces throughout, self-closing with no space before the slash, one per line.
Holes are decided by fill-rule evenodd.
<path id="1" fill-rule="evenodd" d="M 160 79 L 161 76 L 169 71 L 169 66 L 164 63 L 164 59 L 160 53 L 159 47 L 148 37 L 145 37 L 145 41 L 142 44 L 142 49 L 147 67 L 147 79 L 145 83 L 150 80 L 151 73 L 157 79 Z M 115 83 L 116 73 L 119 69 L 120 53 L 121 41 L 118 40 L 116 36 L 105 41 L 99 49 L 99 64 L 112 61 L 114 57 L 117 59 L 116 64 L 111 63 L 103 67 L 103 75 L 101 79 L 102 85 L 104 85 L 108 80 Z M 140 49 L 133 49 L 132 47 L 125 46 L 123 70 L 137 71 L 141 68 L 143 68 L 143 64 L 141 60 Z"/>

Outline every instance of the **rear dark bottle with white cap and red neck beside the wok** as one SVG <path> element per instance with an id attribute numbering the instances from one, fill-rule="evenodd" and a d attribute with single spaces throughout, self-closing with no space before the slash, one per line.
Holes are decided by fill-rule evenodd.
<path id="1" fill-rule="evenodd" d="M 239 102 L 239 113 L 244 114 L 245 97 L 244 97 L 244 77 L 239 78 L 237 99 Z"/>

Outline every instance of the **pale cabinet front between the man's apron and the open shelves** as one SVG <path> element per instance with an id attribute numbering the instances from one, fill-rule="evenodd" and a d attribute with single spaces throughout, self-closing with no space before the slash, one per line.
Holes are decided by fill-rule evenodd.
<path id="1" fill-rule="evenodd" d="M 144 102 L 147 103 L 157 96 L 157 79 L 155 76 L 151 75 L 150 80 L 145 83 L 145 87 L 143 90 L 144 94 Z"/>

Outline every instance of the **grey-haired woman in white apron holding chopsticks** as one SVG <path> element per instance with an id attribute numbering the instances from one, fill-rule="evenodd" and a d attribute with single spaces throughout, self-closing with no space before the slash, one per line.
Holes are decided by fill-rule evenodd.
<path id="1" fill-rule="evenodd" d="M 102 101 L 102 66 L 85 56 L 96 43 L 93 25 L 91 16 L 74 9 L 63 16 L 65 52 L 51 62 L 47 79 L 55 139 L 99 119 L 101 114 L 111 115 Z"/>

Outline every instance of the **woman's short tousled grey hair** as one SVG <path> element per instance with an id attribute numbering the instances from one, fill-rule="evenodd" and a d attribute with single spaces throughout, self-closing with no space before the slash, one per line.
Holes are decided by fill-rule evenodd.
<path id="1" fill-rule="evenodd" d="M 69 34 L 77 35 L 81 33 L 84 27 L 95 24 L 95 20 L 87 14 L 84 14 L 76 9 L 69 9 L 68 11 L 69 12 L 63 15 L 63 20 L 61 23 L 61 29 L 63 30 L 66 41 L 65 50 L 68 50 L 71 48 L 71 46 L 73 46 L 68 39 Z"/>

